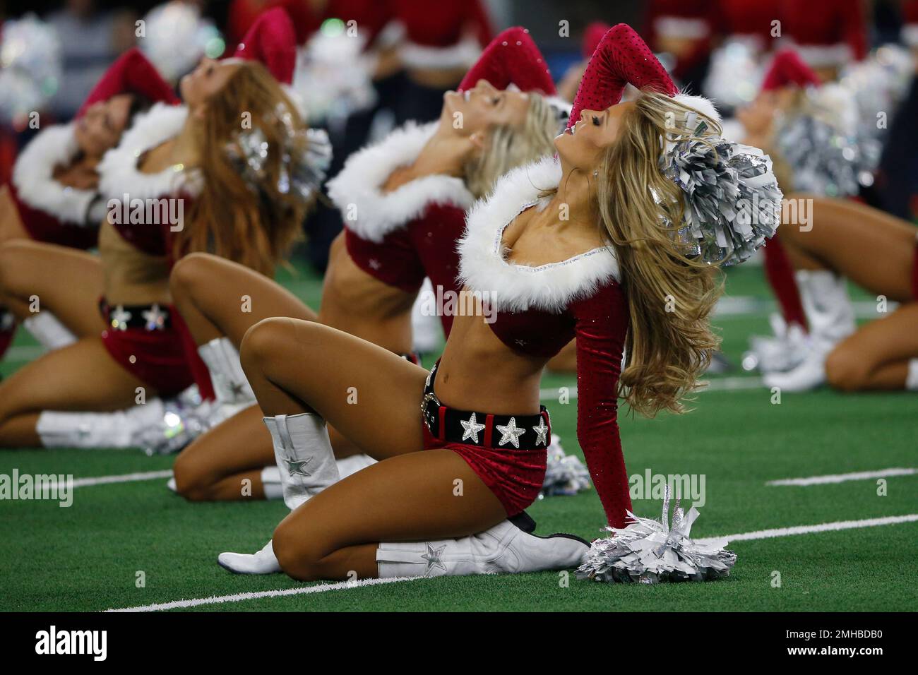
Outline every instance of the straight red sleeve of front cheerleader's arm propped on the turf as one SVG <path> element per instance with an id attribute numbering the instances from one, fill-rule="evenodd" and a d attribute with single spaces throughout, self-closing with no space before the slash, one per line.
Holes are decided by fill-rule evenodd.
<path id="1" fill-rule="evenodd" d="M 618 388 L 628 301 L 618 284 L 571 305 L 577 332 L 577 441 L 606 518 L 624 527 L 632 508 L 621 452 Z"/>

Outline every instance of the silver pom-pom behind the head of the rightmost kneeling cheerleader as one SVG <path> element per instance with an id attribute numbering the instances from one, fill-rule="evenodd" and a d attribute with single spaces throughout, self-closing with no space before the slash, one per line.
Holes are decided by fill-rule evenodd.
<path id="1" fill-rule="evenodd" d="M 856 195 L 862 176 L 879 163 L 879 142 L 858 139 L 812 115 L 790 118 L 775 140 L 793 172 L 794 189 L 800 192 Z"/>

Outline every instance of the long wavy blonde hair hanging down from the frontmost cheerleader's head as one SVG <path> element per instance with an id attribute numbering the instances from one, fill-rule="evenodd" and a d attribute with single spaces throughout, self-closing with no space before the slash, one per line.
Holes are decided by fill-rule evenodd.
<path id="1" fill-rule="evenodd" d="M 689 258 L 679 242 L 681 189 L 660 167 L 664 140 L 695 138 L 683 124 L 688 112 L 669 96 L 642 92 L 599 169 L 599 219 L 617 253 L 630 314 L 621 396 L 648 417 L 685 411 L 682 399 L 721 342 L 709 322 L 722 293 L 719 270 Z M 700 119 L 710 129 L 705 136 L 721 132 L 714 120 Z"/>

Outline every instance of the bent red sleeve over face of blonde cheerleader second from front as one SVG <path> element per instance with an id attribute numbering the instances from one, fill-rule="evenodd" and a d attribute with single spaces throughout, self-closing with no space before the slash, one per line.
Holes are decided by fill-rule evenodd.
<path id="1" fill-rule="evenodd" d="M 475 65 L 465 73 L 459 91 L 487 80 L 498 89 L 516 84 L 524 92 L 538 91 L 554 96 L 554 80 L 539 48 L 525 28 L 507 28 L 492 39 Z"/>

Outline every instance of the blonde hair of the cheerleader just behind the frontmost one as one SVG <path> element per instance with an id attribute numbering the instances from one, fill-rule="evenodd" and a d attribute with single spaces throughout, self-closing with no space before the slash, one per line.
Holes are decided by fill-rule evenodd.
<path id="1" fill-rule="evenodd" d="M 510 169 L 553 153 L 558 131 L 560 124 L 554 108 L 543 96 L 530 93 L 523 123 L 491 129 L 483 151 L 465 163 L 465 186 L 475 197 L 485 197 Z"/>

